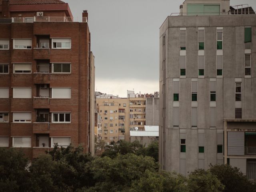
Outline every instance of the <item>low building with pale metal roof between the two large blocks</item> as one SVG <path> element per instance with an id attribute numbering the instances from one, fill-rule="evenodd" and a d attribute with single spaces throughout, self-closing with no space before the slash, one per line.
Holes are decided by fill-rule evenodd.
<path id="1" fill-rule="evenodd" d="M 158 136 L 158 126 L 145 125 L 145 130 L 143 131 L 130 131 L 130 141 L 138 140 L 140 144 L 145 146 L 148 146 L 150 142 L 158 141 Z"/>

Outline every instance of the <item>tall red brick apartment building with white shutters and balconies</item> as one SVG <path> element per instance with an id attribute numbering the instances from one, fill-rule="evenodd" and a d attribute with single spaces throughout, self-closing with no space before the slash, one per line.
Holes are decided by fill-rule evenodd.
<path id="1" fill-rule="evenodd" d="M 0 0 L 0 147 L 30 159 L 54 143 L 94 152 L 87 20 L 60 0 Z"/>

